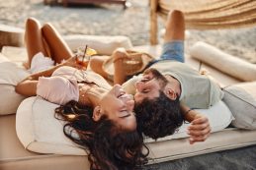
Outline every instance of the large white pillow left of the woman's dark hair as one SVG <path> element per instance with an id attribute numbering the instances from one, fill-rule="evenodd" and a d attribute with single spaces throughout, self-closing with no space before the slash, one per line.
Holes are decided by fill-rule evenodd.
<path id="1" fill-rule="evenodd" d="M 57 104 L 40 96 L 23 100 L 16 114 L 17 136 L 25 148 L 40 153 L 86 155 L 63 134 L 64 122 L 54 117 Z"/>

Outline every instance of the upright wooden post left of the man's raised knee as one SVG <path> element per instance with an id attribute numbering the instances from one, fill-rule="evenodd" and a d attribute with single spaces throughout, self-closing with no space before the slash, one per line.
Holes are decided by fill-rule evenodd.
<path id="1" fill-rule="evenodd" d="M 155 45 L 157 40 L 157 6 L 158 0 L 150 0 L 150 44 Z"/>

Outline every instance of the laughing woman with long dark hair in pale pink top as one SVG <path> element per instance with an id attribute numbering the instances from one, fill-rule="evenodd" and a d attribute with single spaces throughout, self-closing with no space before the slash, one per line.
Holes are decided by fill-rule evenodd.
<path id="1" fill-rule="evenodd" d="M 25 40 L 27 66 L 36 73 L 19 83 L 16 91 L 60 104 L 55 112 L 67 122 L 64 134 L 89 149 L 91 169 L 134 169 L 145 164 L 148 149 L 142 152 L 144 144 L 136 132 L 130 95 L 120 85 L 111 87 L 101 76 L 82 71 L 86 65 L 76 63 L 49 24 L 41 28 L 37 20 L 29 19 Z M 42 66 L 48 69 L 38 72 Z"/>

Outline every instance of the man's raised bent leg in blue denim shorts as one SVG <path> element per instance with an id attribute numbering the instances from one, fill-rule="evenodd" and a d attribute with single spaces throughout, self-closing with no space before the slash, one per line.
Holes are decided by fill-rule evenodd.
<path id="1" fill-rule="evenodd" d="M 183 13 L 177 10 L 169 12 L 160 60 L 184 62 L 184 39 L 185 23 Z"/>

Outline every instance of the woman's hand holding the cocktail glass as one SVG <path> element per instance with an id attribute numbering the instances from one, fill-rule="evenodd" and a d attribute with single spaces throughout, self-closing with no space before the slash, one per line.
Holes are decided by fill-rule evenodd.
<path id="1" fill-rule="evenodd" d="M 86 70 L 89 61 L 88 60 L 80 60 L 82 57 L 81 56 L 74 56 L 66 60 L 65 62 L 62 63 L 63 66 L 69 66 L 73 67 L 79 70 Z"/>

